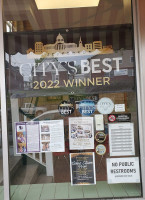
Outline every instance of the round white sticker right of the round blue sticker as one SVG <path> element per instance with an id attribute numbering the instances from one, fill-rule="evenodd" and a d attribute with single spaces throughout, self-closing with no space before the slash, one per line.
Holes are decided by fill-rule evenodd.
<path id="1" fill-rule="evenodd" d="M 110 114 L 114 110 L 114 103 L 107 97 L 101 98 L 97 103 L 97 110 L 104 115 Z"/>

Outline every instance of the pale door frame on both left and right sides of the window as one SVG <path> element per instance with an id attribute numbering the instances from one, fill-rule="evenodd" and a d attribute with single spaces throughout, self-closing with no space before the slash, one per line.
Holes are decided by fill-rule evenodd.
<path id="1" fill-rule="evenodd" d="M 138 119 L 139 119 L 139 139 L 140 139 L 140 159 L 141 159 L 141 179 L 143 198 L 145 199 L 145 45 L 143 46 L 142 36 L 145 29 L 141 31 L 139 3 L 145 0 L 132 0 L 133 22 L 134 22 L 134 44 L 136 60 L 136 80 L 138 99 Z M 9 184 L 9 163 L 8 163 L 8 134 L 7 134 L 7 112 L 6 112 L 6 84 L 5 84 L 5 63 L 4 63 L 4 40 L 3 40 L 3 5 L 0 0 L 0 85 L 1 85 L 1 119 L 2 119 L 2 147 L 3 147 L 3 180 L 4 180 L 4 200 L 10 200 Z M 145 20 L 144 20 L 145 21 Z M 145 24 L 145 22 L 144 22 Z M 143 55 L 144 53 L 144 55 Z M 128 198 L 130 199 L 130 198 Z M 136 198 L 133 198 L 136 199 Z"/>

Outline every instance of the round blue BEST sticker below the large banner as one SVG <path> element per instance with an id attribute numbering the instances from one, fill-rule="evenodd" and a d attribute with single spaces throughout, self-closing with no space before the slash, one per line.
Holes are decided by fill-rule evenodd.
<path id="1" fill-rule="evenodd" d="M 79 112 L 82 115 L 90 116 L 95 112 L 95 102 L 92 100 L 83 100 L 79 103 Z"/>

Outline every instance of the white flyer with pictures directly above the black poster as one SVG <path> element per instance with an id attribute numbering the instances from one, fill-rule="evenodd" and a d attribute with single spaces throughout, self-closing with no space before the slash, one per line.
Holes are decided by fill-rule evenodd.
<path id="1" fill-rule="evenodd" d="M 94 149 L 93 117 L 69 118 L 69 148 Z"/>

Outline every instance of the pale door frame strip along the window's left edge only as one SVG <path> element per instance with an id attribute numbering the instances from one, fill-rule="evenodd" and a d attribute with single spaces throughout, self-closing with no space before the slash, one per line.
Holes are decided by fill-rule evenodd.
<path id="1" fill-rule="evenodd" d="M 2 153 L 3 153 L 3 185 L 4 199 L 9 200 L 9 163 L 8 163 L 8 132 L 6 111 L 6 81 L 4 63 L 4 39 L 3 39 L 3 1 L 0 0 L 0 86 L 1 86 L 1 124 L 2 124 Z"/>

